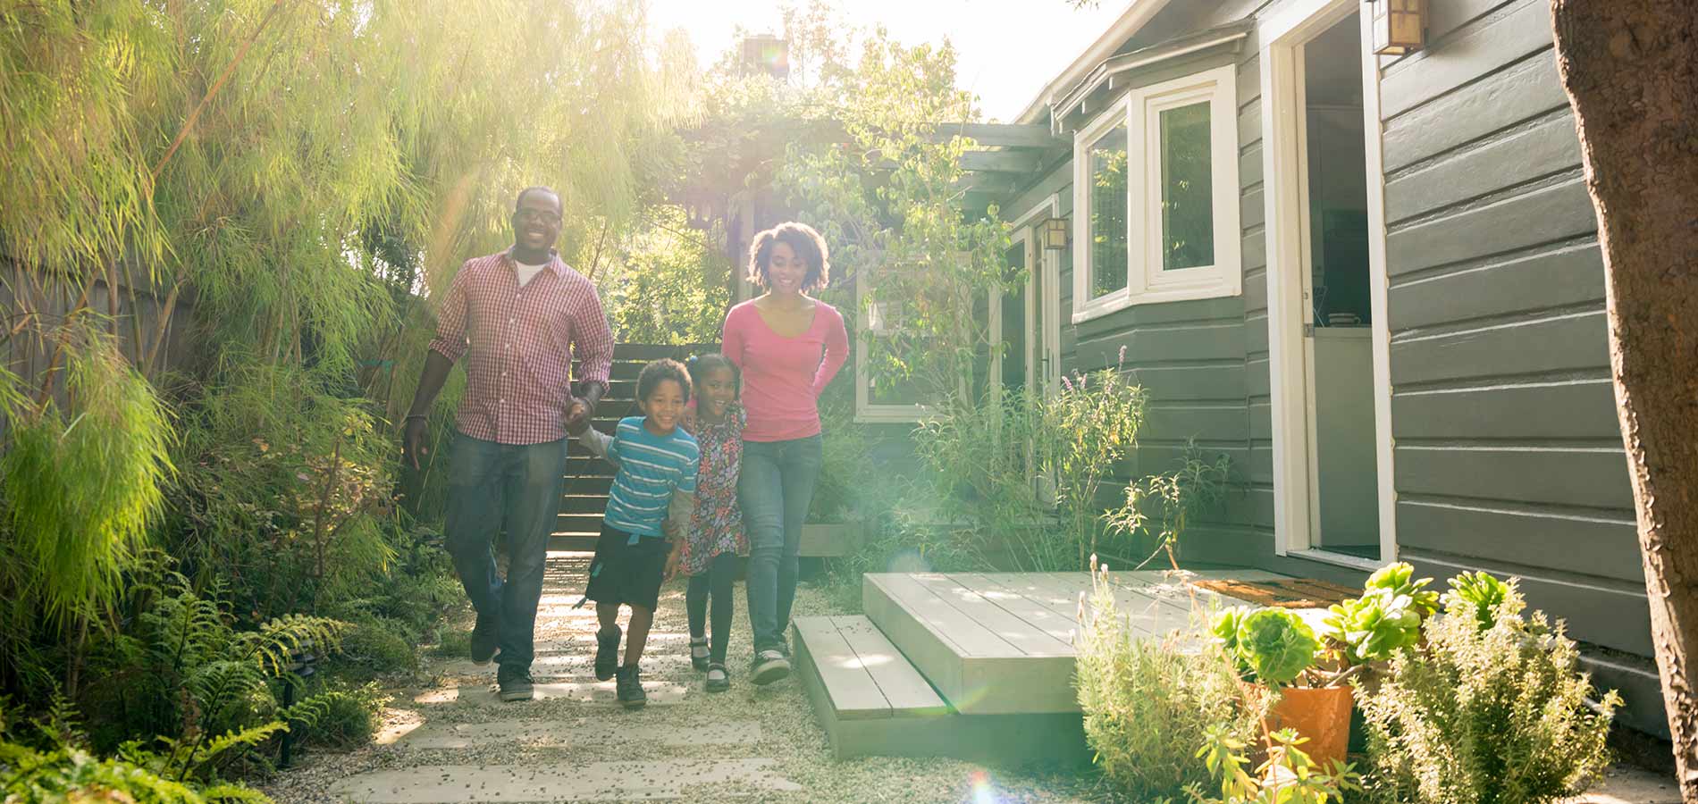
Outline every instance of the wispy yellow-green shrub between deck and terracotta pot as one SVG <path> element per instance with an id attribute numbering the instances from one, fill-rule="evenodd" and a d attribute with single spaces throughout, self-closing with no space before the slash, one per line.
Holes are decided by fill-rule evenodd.
<path id="1" fill-rule="evenodd" d="M 1180 633 L 1139 638 L 1105 578 L 1090 597 L 1075 668 L 1085 740 L 1131 801 L 1207 785 L 1197 748 L 1214 736 L 1253 741 L 1267 707 L 1267 695 L 1245 697 L 1219 645 Z"/>

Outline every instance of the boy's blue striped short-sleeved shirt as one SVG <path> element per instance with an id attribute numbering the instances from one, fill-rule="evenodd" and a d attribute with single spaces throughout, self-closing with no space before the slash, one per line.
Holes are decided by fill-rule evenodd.
<path id="1" fill-rule="evenodd" d="M 696 494 L 701 449 L 683 427 L 655 436 L 642 416 L 620 419 L 608 461 L 618 466 L 603 521 L 633 536 L 662 536 L 672 492 Z"/>

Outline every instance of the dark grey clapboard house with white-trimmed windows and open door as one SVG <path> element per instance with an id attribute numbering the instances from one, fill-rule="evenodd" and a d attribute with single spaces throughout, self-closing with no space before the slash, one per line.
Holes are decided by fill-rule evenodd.
<path id="1" fill-rule="evenodd" d="M 1549 3 L 1426 0 L 1425 46 L 1377 56 L 1387 2 L 1134 0 L 1053 76 L 1012 122 L 1071 148 L 997 198 L 1034 266 L 1007 360 L 1124 348 L 1136 470 L 1231 455 L 1248 490 L 1187 558 L 1516 575 L 1666 734 Z"/>

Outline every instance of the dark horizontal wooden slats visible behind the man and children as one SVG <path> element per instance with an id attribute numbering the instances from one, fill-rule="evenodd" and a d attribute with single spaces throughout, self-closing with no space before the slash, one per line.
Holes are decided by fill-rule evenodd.
<path id="1" fill-rule="evenodd" d="M 717 351 L 717 344 L 655 346 L 621 343 L 613 348 L 613 373 L 608 395 L 596 405 L 594 427 L 613 433 L 620 419 L 637 414 L 637 375 L 642 366 L 661 358 L 684 360 L 703 351 Z M 608 509 L 608 490 L 613 487 L 613 466 L 591 456 L 574 443 L 565 460 L 565 497 L 555 517 L 548 550 L 591 551 L 601 534 L 601 514 Z"/>

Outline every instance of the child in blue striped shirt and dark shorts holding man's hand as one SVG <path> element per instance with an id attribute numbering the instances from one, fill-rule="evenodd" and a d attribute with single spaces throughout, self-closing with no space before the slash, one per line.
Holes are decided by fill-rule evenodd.
<path id="1" fill-rule="evenodd" d="M 689 402 L 689 375 L 676 360 L 657 360 L 637 375 L 637 407 L 644 416 L 620 419 L 613 436 L 579 417 L 577 436 L 591 453 L 618 470 L 601 517 L 596 558 L 589 561 L 584 599 L 596 602 L 596 678 L 618 678 L 627 709 L 649 702 L 637 662 L 649 641 L 661 583 L 678 572 L 683 531 L 696 495 L 696 439 L 678 426 Z M 582 402 L 574 402 L 574 409 Z M 582 600 L 579 600 L 582 606 Z M 630 606 L 630 639 L 620 662 L 620 606 Z"/>

